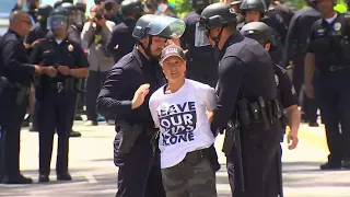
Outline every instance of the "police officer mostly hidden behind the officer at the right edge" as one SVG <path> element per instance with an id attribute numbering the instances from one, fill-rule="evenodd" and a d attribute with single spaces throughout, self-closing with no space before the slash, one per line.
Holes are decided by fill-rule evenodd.
<path id="1" fill-rule="evenodd" d="M 307 37 L 315 21 L 320 19 L 316 0 L 306 0 L 306 7 L 295 12 L 288 28 L 285 38 L 287 62 L 291 66 L 292 82 L 298 97 L 304 83 L 304 60 L 306 55 Z M 317 124 L 317 102 L 315 99 L 303 96 L 304 119 L 310 126 Z"/>

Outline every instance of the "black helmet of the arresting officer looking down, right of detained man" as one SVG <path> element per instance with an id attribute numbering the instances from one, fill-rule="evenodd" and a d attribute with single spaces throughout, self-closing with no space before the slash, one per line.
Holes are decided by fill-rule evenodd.
<path id="1" fill-rule="evenodd" d="M 237 23 L 237 13 L 226 3 L 213 3 L 205 8 L 200 14 L 199 27 L 210 30 L 225 26 L 229 23 Z"/>

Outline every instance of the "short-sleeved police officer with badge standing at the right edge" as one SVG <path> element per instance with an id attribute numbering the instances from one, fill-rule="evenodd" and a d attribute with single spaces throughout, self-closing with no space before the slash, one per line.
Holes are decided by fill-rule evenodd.
<path id="1" fill-rule="evenodd" d="M 322 19 L 312 27 L 305 57 L 306 95 L 315 95 L 319 102 L 330 152 L 328 162 L 320 165 L 322 170 L 350 169 L 350 16 L 337 13 L 334 4 L 334 0 L 317 0 Z M 316 70 L 318 79 L 314 88 L 312 82 Z"/>

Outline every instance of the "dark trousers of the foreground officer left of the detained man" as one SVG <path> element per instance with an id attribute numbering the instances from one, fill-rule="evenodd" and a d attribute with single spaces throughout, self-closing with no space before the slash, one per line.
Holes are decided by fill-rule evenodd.
<path id="1" fill-rule="evenodd" d="M 115 149 L 121 138 L 118 132 Z M 150 139 L 141 135 L 128 154 L 116 150 L 115 164 L 119 166 L 116 197 L 165 197 L 159 152 L 153 155 Z"/>

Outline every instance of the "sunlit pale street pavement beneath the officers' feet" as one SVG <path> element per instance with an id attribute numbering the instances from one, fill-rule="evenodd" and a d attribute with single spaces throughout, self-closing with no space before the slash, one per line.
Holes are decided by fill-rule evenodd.
<path id="1" fill-rule="evenodd" d="M 117 189 L 118 169 L 113 163 L 114 126 L 101 124 L 85 127 L 74 123 L 81 138 L 70 139 L 70 172 L 72 182 L 57 182 L 55 174 L 57 139 L 54 146 L 51 182 L 37 183 L 38 137 L 23 128 L 21 143 L 21 169 L 24 175 L 34 178 L 32 185 L 0 185 L 0 197 L 112 197 Z M 290 151 L 283 144 L 284 197 L 350 197 L 350 171 L 322 172 L 319 165 L 328 154 L 324 128 L 301 127 L 299 147 Z M 231 197 L 221 152 L 223 138 L 217 139 L 217 150 L 222 164 L 217 173 L 219 197 Z M 142 165 L 142 163 L 140 163 Z"/>

